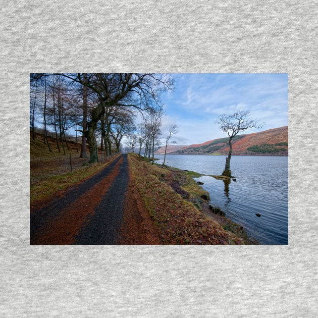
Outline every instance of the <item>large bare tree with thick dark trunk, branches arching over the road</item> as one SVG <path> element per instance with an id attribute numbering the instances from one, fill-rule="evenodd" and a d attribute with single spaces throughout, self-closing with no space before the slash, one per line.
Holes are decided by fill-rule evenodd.
<path id="1" fill-rule="evenodd" d="M 97 160 L 95 131 L 106 108 L 125 105 L 140 111 L 160 110 L 160 93 L 173 86 L 172 78 L 165 74 L 91 73 L 87 76 L 87 82 L 84 81 L 81 73 L 63 75 L 87 86 L 98 97 L 98 103 L 91 109 L 87 129 L 84 132 L 91 163 Z"/>

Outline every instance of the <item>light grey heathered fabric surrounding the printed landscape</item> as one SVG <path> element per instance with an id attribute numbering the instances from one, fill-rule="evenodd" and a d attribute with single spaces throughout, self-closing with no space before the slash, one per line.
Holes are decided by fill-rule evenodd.
<path id="1" fill-rule="evenodd" d="M 317 1 L 1 4 L 1 317 L 317 316 Z M 30 72 L 289 73 L 289 245 L 30 246 Z"/>

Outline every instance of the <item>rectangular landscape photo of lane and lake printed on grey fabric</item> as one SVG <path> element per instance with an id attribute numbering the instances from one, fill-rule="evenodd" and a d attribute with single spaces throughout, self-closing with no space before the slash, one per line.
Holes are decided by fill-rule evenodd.
<path id="1" fill-rule="evenodd" d="M 30 73 L 30 244 L 288 245 L 288 74 Z"/>

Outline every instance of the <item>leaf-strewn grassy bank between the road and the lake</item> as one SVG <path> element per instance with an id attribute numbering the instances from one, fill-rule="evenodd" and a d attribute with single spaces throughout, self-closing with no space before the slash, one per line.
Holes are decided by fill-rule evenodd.
<path id="1" fill-rule="evenodd" d="M 208 216 L 208 193 L 192 179 L 198 174 L 151 165 L 139 161 L 135 154 L 129 155 L 129 162 L 136 187 L 164 244 L 251 243 L 240 226 L 222 216 Z"/>

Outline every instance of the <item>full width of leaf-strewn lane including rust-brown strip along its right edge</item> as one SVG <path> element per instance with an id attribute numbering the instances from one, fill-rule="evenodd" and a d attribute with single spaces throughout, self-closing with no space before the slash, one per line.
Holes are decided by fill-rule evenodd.
<path id="1" fill-rule="evenodd" d="M 30 211 L 31 244 L 160 244 L 129 177 L 127 155 Z"/>

